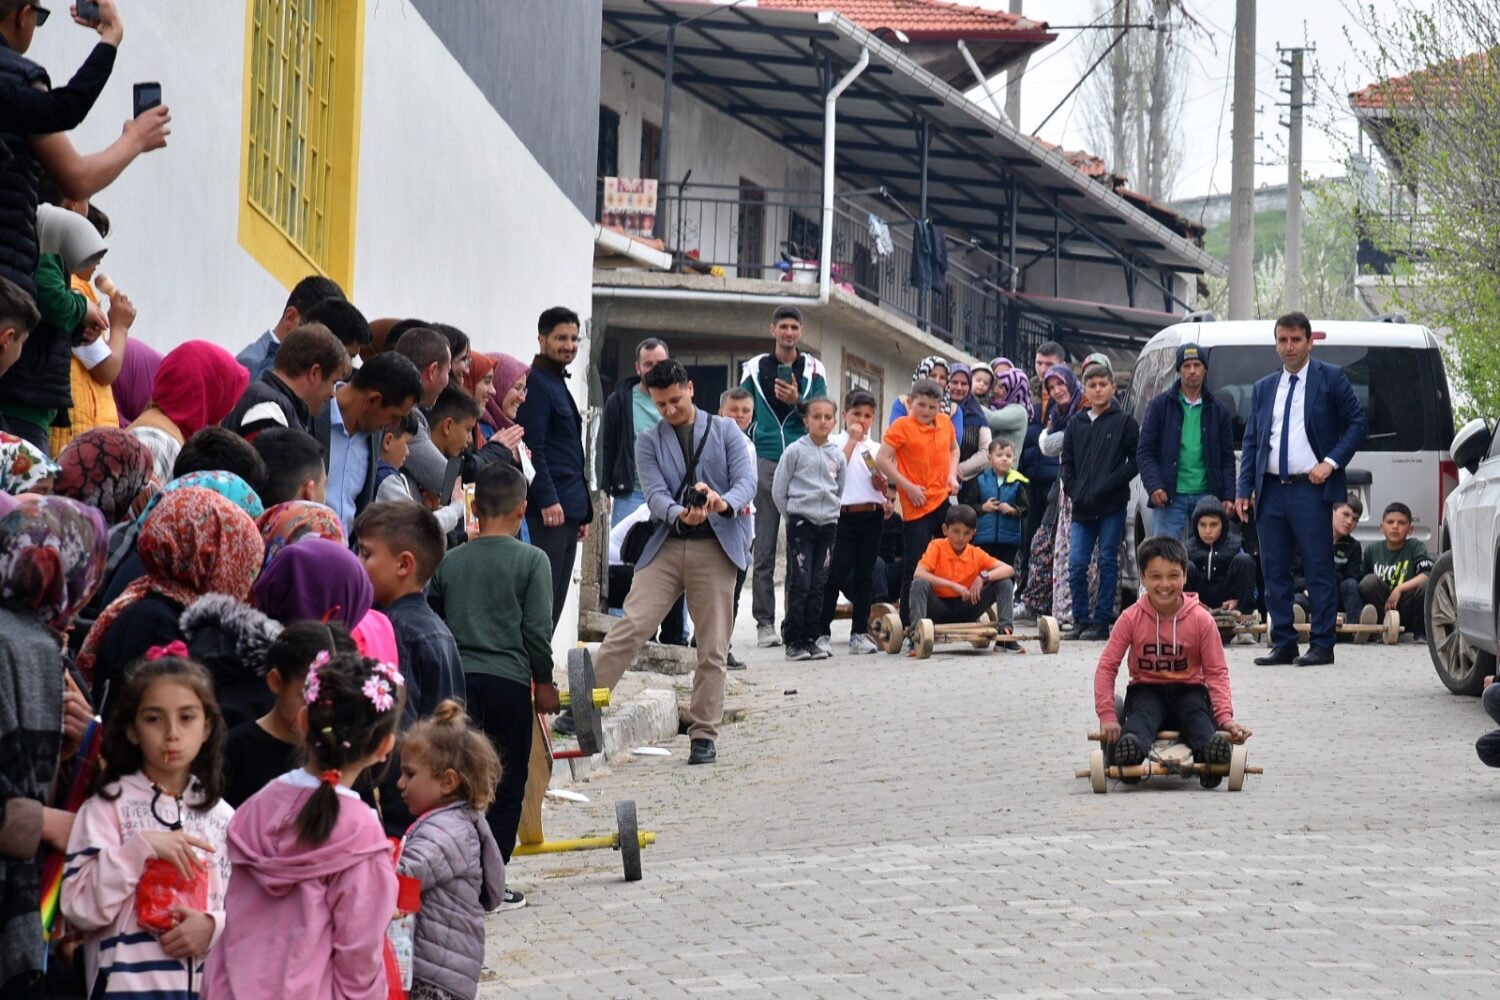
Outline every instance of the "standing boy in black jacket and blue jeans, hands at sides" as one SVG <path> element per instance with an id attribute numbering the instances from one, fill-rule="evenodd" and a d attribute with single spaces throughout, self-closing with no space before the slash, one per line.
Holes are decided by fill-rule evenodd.
<path id="1" fill-rule="evenodd" d="M 1072 414 L 1062 439 L 1059 475 L 1062 489 L 1072 499 L 1072 531 L 1068 535 L 1072 631 L 1068 636 L 1108 639 L 1140 429 L 1114 399 L 1114 375 L 1102 364 L 1083 370 L 1083 400 L 1084 408 Z M 1090 613 L 1089 562 L 1095 546 L 1100 549 L 1100 585 Z"/>

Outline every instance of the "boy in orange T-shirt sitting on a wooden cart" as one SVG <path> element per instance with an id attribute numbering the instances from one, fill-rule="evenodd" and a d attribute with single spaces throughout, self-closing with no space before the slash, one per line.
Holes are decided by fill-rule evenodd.
<path id="1" fill-rule="evenodd" d="M 930 618 L 936 625 L 976 622 L 994 607 L 1000 633 L 1010 634 L 1016 570 L 970 544 L 976 517 L 972 507 L 956 504 L 944 517 L 942 538 L 934 538 L 912 574 L 910 615 L 915 625 Z M 996 639 L 996 649 L 1024 652 L 1010 639 Z"/>

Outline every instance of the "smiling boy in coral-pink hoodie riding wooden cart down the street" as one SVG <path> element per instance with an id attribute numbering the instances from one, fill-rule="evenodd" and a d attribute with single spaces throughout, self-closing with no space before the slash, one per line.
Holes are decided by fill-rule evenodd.
<path id="1" fill-rule="evenodd" d="M 1162 729 L 1176 729 L 1198 763 L 1227 765 L 1230 744 L 1250 739 L 1234 721 L 1228 664 L 1214 616 L 1184 594 L 1188 550 L 1176 538 L 1148 538 L 1136 549 L 1142 597 L 1114 622 L 1094 672 L 1094 708 L 1112 763 L 1138 765 Z M 1130 657 L 1125 721 L 1114 714 L 1114 678 Z M 1203 787 L 1220 783 L 1203 775 Z"/>

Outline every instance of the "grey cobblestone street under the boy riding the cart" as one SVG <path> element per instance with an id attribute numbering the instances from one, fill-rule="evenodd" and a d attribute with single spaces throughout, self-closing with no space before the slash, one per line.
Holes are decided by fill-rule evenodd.
<path id="1" fill-rule="evenodd" d="M 836 625 L 842 649 L 844 627 Z M 518 859 L 482 997 L 1492 997 L 1500 784 L 1424 646 L 1228 651 L 1242 793 L 1076 780 L 1102 643 L 750 661 L 718 763 L 616 759 L 549 838 L 634 799 L 618 855 Z M 1124 679 L 1122 679 L 1124 684 Z"/>

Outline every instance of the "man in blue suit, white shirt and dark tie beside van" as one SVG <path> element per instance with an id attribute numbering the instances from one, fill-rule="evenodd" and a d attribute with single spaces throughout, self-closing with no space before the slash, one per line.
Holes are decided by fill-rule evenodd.
<path id="1" fill-rule="evenodd" d="M 1365 442 L 1365 411 L 1348 376 L 1335 364 L 1312 360 L 1312 324 L 1300 312 L 1276 319 L 1281 370 L 1256 382 L 1250 421 L 1240 445 L 1240 520 L 1256 507 L 1260 570 L 1266 579 L 1270 652 L 1260 666 L 1334 663 L 1338 582 L 1334 574 L 1334 504 L 1348 489 L 1344 469 Z M 1302 555 L 1312 631 L 1298 655 L 1292 625 L 1292 559 Z"/>

